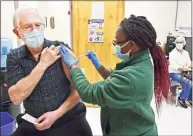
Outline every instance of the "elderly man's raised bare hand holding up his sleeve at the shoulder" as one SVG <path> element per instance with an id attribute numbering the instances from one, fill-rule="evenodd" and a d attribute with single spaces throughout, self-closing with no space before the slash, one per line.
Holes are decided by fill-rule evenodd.
<path id="1" fill-rule="evenodd" d="M 60 46 L 55 47 L 54 45 L 49 48 L 46 47 L 41 52 L 40 64 L 47 69 L 50 65 L 52 65 L 56 60 L 58 60 L 61 56 L 59 55 Z"/>

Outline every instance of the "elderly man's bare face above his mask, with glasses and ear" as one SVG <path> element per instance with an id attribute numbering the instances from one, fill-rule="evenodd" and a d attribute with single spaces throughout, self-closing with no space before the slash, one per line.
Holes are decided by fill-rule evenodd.
<path id="1" fill-rule="evenodd" d="M 18 24 L 19 27 L 15 28 L 13 32 L 21 40 L 24 40 L 23 33 L 32 32 L 33 30 L 44 31 L 44 24 L 40 16 L 35 11 L 22 13 Z"/>

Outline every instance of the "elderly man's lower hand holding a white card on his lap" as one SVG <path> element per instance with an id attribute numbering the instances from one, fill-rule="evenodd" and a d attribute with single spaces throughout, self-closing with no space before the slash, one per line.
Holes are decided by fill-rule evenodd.
<path id="1" fill-rule="evenodd" d="M 55 111 L 46 112 L 37 119 L 38 124 L 34 126 L 37 130 L 43 131 L 49 129 L 58 118 L 59 117 Z"/>

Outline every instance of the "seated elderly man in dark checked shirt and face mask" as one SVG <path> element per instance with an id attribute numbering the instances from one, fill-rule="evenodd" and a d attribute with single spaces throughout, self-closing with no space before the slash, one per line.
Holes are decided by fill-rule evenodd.
<path id="1" fill-rule="evenodd" d="M 13 136 L 91 136 L 86 107 L 64 73 L 59 48 L 62 42 L 44 38 L 44 24 L 37 10 L 18 9 L 13 32 L 25 44 L 7 57 L 9 96 L 23 102 L 26 113 L 37 125 L 18 115 Z"/>

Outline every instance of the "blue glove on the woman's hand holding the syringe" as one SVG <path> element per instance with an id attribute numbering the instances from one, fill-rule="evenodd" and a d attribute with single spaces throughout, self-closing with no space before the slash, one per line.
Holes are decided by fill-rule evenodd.
<path id="1" fill-rule="evenodd" d="M 93 51 L 89 50 L 86 56 L 91 60 L 96 69 L 101 67 L 101 63 L 99 62 L 96 54 Z"/>

